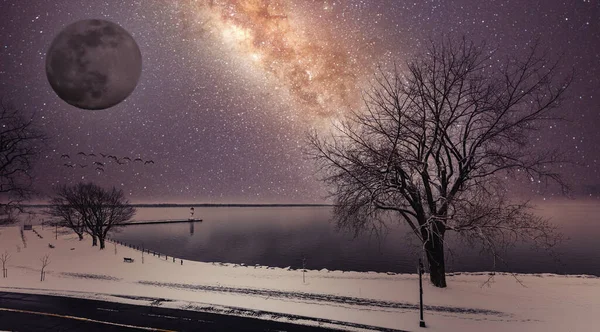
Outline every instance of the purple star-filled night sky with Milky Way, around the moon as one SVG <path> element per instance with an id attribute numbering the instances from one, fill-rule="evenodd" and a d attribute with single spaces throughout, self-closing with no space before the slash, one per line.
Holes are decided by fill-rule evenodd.
<path id="1" fill-rule="evenodd" d="M 466 35 L 519 54 L 534 41 L 576 79 L 568 121 L 535 134 L 577 166 L 577 197 L 600 195 L 598 0 L 0 0 L 0 93 L 34 113 L 51 140 L 34 170 L 43 195 L 94 181 L 133 202 L 322 203 L 326 190 L 302 156 L 310 128 L 348 109 L 377 66 L 405 63 L 430 38 Z M 135 91 L 107 110 L 57 97 L 45 74 L 53 38 L 81 19 L 105 19 L 137 41 Z M 94 153 L 97 159 L 77 155 Z M 153 160 L 104 172 L 65 167 L 100 153 Z M 79 159 L 77 159 L 79 158 Z M 522 191 L 552 198 L 523 184 Z"/>

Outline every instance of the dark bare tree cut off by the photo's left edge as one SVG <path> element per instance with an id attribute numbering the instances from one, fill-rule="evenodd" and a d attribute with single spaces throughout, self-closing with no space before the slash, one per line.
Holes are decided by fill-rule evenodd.
<path id="1" fill-rule="evenodd" d="M 0 100 L 0 225 L 16 222 L 32 194 L 30 171 L 45 139 L 33 116 Z"/>

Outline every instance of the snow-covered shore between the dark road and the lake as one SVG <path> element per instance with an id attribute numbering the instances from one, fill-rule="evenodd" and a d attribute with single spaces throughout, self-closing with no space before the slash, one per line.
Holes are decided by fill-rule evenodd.
<path id="1" fill-rule="evenodd" d="M 350 330 L 420 330 L 416 274 L 306 272 L 265 266 L 173 262 L 35 226 L 0 228 L 8 278 L 0 290 L 61 294 L 212 311 Z M 62 234 L 61 234 L 62 233 Z M 41 237 L 40 237 L 41 236 Z M 54 248 L 50 248 L 52 244 Z M 227 245 L 224 243 L 223 245 Z M 20 247 L 20 249 L 17 248 Z M 50 255 L 46 279 L 40 259 Z M 326 254 L 326 253 L 323 253 Z M 131 257 L 133 263 L 123 262 Z M 591 331 L 600 326 L 600 278 L 552 274 L 454 273 L 438 289 L 425 278 L 427 331 Z"/>

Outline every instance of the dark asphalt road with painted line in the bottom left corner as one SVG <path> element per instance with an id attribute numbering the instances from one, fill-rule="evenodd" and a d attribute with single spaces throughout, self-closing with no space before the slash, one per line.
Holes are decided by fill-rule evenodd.
<path id="1" fill-rule="evenodd" d="M 255 318 L 0 292 L 0 331 L 331 331 Z"/>

